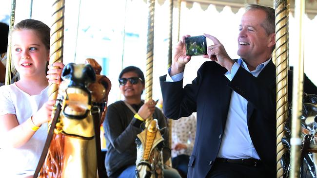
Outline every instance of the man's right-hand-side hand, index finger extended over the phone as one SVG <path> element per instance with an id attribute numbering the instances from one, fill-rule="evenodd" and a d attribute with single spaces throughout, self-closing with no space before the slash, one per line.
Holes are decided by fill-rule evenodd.
<path id="1" fill-rule="evenodd" d="M 216 61 L 220 66 L 226 68 L 228 71 L 231 71 L 235 61 L 229 57 L 220 41 L 216 37 L 208 34 L 204 34 L 204 36 L 211 39 L 214 42 L 214 45 L 207 47 L 207 54 L 203 55 L 203 57 Z"/>

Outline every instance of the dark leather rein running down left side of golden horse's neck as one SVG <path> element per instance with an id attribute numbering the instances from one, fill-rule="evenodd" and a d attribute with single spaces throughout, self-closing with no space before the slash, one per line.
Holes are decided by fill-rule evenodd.
<path id="1" fill-rule="evenodd" d="M 52 138 L 53 138 L 54 129 L 55 129 L 57 120 L 59 118 L 60 110 L 61 110 L 61 105 L 58 103 L 57 106 L 56 106 L 56 111 L 55 111 L 55 114 L 54 114 L 54 118 L 52 120 L 52 124 L 51 124 L 50 130 L 48 131 L 48 135 L 47 135 L 47 138 L 46 138 L 46 141 L 45 141 L 45 144 L 44 144 L 44 148 L 43 148 L 42 154 L 40 156 L 40 160 L 39 160 L 38 166 L 36 167 L 36 170 L 35 170 L 33 178 L 38 178 L 40 170 L 41 170 L 41 167 L 43 166 L 43 163 L 44 163 L 44 161 L 46 159 L 48 148 L 50 147 L 50 144 L 51 144 L 51 141 L 52 141 Z"/>

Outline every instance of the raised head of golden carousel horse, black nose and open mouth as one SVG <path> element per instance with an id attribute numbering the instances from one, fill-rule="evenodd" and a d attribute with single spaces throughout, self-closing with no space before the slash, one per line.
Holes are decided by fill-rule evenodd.
<path id="1" fill-rule="evenodd" d="M 96 81 L 96 74 L 90 65 L 68 64 L 62 71 L 59 85 L 59 99 L 62 100 L 62 113 L 59 127 L 66 135 L 89 139 L 94 137 L 91 92 L 88 85 Z M 62 128 L 60 128 L 62 126 Z"/>

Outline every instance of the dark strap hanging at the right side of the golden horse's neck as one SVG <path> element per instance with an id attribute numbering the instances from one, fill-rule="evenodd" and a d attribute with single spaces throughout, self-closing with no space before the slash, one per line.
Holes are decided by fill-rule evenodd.
<path id="1" fill-rule="evenodd" d="M 100 125 L 99 125 L 99 108 L 92 107 L 91 115 L 93 116 L 94 121 L 94 130 L 95 130 L 95 141 L 96 141 L 96 153 L 97 153 L 97 168 L 98 168 L 98 176 L 99 178 L 105 178 L 102 171 L 102 160 L 101 160 L 101 145 L 100 145 Z"/>

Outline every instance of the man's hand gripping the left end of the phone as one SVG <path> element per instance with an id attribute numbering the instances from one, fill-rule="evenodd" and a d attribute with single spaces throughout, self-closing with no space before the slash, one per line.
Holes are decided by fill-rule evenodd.
<path id="1" fill-rule="evenodd" d="M 191 56 L 186 55 L 185 38 L 187 37 L 190 37 L 190 35 L 183 36 L 182 40 L 178 41 L 175 48 L 175 55 L 170 71 L 171 76 L 183 72 L 185 70 L 185 64 L 187 64 L 191 59 Z"/>

